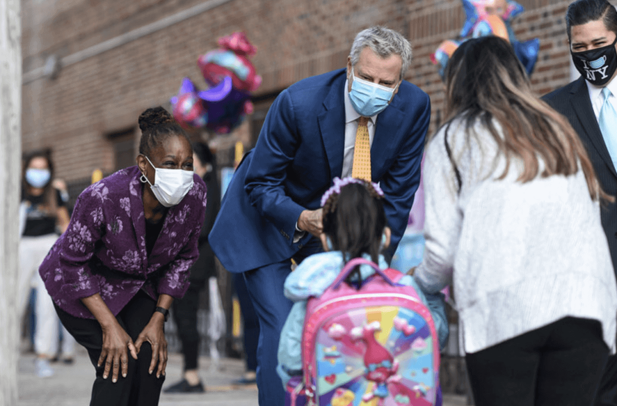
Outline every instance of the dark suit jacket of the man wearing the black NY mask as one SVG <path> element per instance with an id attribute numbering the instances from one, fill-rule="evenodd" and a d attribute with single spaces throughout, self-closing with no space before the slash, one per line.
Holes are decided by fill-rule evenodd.
<path id="1" fill-rule="evenodd" d="M 565 115 L 581 138 L 587 154 L 594 165 L 595 175 L 605 192 L 617 196 L 617 172 L 602 138 L 600 126 L 595 118 L 584 78 L 579 78 L 542 97 L 553 109 Z M 617 205 L 611 203 L 602 207 L 602 226 L 607 234 L 608 247 L 617 264 Z"/>

